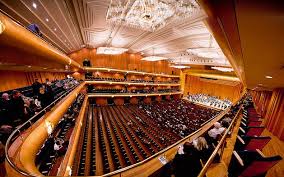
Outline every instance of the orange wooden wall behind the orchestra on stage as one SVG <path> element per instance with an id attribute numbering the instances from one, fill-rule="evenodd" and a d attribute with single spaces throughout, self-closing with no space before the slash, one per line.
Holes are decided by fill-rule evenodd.
<path id="1" fill-rule="evenodd" d="M 242 93 L 242 85 L 223 85 L 217 83 L 204 82 L 199 77 L 187 75 L 185 78 L 184 95 L 204 93 L 218 96 L 221 99 L 237 101 Z"/>

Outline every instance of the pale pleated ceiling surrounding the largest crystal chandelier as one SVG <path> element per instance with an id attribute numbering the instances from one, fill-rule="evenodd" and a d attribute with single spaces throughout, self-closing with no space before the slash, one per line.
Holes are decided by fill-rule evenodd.
<path id="1" fill-rule="evenodd" d="M 203 23 L 207 16 L 202 9 L 150 32 L 107 23 L 109 4 L 110 0 L 1 0 L 0 7 L 25 26 L 38 24 L 44 38 L 67 54 L 85 46 L 112 46 L 145 56 L 168 57 L 175 63 L 230 66 Z M 210 59 L 186 53 L 189 48 L 208 47 L 217 48 L 220 57 Z"/>

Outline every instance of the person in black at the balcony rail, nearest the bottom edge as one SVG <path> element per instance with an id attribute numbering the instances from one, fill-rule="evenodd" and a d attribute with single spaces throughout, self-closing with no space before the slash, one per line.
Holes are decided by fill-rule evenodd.
<path id="1" fill-rule="evenodd" d="M 173 172 L 175 177 L 196 177 L 201 171 L 201 163 L 196 154 L 194 146 L 186 142 L 180 146 L 173 160 Z"/>

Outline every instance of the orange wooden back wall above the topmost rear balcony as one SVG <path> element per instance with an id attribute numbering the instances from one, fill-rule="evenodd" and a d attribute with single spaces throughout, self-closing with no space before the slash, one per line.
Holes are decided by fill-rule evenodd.
<path id="1" fill-rule="evenodd" d="M 96 49 L 83 48 L 69 55 L 70 58 L 82 64 L 84 59 L 91 61 L 92 67 L 137 70 L 151 73 L 179 74 L 179 70 L 169 67 L 167 61 L 142 61 L 139 54 L 123 53 L 121 55 L 97 55 Z"/>

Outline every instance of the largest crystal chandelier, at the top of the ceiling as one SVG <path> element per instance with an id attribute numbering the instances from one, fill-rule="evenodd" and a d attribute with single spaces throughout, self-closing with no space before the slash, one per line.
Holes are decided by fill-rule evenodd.
<path id="1" fill-rule="evenodd" d="M 199 10 L 195 0 L 112 0 L 106 20 L 110 23 L 156 31 L 164 27 L 171 19 L 190 17 Z"/>

